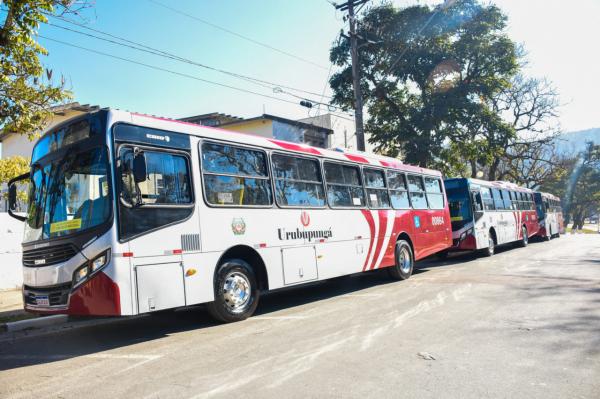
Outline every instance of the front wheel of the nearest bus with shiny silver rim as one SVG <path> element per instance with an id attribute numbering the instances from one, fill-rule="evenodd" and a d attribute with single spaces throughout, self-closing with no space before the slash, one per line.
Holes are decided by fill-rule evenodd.
<path id="1" fill-rule="evenodd" d="M 215 300 L 208 304 L 208 312 L 224 323 L 246 320 L 258 306 L 256 275 L 242 259 L 228 259 L 217 267 L 214 290 Z"/>

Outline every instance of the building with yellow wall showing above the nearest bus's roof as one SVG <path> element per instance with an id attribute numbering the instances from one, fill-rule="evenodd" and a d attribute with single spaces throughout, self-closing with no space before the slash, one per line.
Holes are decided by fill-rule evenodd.
<path id="1" fill-rule="evenodd" d="M 278 140 L 305 143 L 315 147 L 329 148 L 333 130 L 313 123 L 295 121 L 279 116 L 263 114 L 243 119 L 231 115 L 213 112 L 181 118 L 181 121 L 197 123 L 203 126 L 219 127 L 234 132 L 255 134 Z"/>

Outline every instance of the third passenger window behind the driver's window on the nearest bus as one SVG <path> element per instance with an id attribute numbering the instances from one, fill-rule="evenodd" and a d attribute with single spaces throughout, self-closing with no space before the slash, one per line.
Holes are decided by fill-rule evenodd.
<path id="1" fill-rule="evenodd" d="M 356 166 L 325 162 L 327 199 L 331 207 L 364 207 L 365 193 Z"/>

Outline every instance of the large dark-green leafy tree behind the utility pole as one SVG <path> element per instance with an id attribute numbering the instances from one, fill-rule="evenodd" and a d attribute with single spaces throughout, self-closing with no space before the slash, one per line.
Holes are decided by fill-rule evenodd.
<path id="1" fill-rule="evenodd" d="M 494 158 L 496 147 L 482 148 L 473 132 L 511 134 L 491 104 L 518 69 L 506 16 L 496 6 L 447 4 L 374 7 L 357 29 L 370 142 L 378 152 L 441 169 L 458 166 L 452 154 L 458 142 L 470 159 Z M 352 108 L 348 38 L 333 46 L 330 58 L 341 67 L 330 79 L 333 101 Z"/>

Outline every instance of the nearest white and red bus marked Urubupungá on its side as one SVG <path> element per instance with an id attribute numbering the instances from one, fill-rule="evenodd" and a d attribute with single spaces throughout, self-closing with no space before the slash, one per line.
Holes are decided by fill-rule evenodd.
<path id="1" fill-rule="evenodd" d="M 25 308 L 136 315 L 208 303 L 242 320 L 260 292 L 413 262 L 452 245 L 440 172 L 101 110 L 35 145 Z"/>

